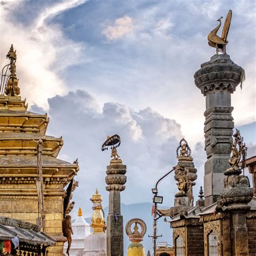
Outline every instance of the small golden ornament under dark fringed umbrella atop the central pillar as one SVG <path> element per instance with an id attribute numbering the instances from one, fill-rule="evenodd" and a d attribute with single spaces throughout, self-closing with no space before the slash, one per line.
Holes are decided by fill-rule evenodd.
<path id="1" fill-rule="evenodd" d="M 109 147 L 112 150 L 111 152 L 111 161 L 110 164 L 122 164 L 123 161 L 120 159 L 120 156 L 117 153 L 117 147 L 121 144 L 121 138 L 119 135 L 114 134 L 113 136 L 107 136 L 107 139 L 102 145 L 102 151 L 107 150 Z"/>

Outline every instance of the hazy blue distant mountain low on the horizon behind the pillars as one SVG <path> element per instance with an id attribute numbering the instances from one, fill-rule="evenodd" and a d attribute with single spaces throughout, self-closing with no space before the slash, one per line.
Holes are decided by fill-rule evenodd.
<path id="1" fill-rule="evenodd" d="M 161 206 L 159 208 L 169 208 L 166 206 Z M 130 205 L 125 205 L 121 204 L 121 211 L 122 215 L 124 217 L 124 229 L 127 221 L 133 218 L 139 218 L 145 221 L 146 226 L 147 226 L 147 232 L 144 236 L 144 240 L 142 244 L 144 245 L 145 248 L 145 253 L 147 253 L 147 250 L 150 250 L 151 255 L 152 255 L 152 248 L 153 248 L 153 241 L 152 238 L 149 238 L 149 235 L 153 234 L 153 217 L 151 216 L 151 211 L 152 211 L 152 203 L 139 203 L 139 204 L 130 204 Z M 107 217 L 107 213 L 109 212 L 109 207 L 104 208 L 104 213 L 105 213 L 105 219 Z M 91 219 L 86 218 L 85 219 L 87 223 L 91 224 Z M 163 237 L 158 238 L 157 242 L 168 242 L 168 244 L 172 245 L 172 230 L 170 228 L 169 223 L 164 222 L 164 218 L 160 218 L 158 220 L 158 235 L 163 235 Z M 130 241 L 129 238 L 127 237 L 125 230 L 124 230 L 124 251 L 125 253 L 127 252 L 127 247 L 129 246 Z"/>

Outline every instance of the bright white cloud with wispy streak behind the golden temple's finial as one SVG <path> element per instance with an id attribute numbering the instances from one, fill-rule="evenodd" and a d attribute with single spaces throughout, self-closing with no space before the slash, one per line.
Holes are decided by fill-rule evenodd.
<path id="1" fill-rule="evenodd" d="M 0 56 L 5 56 L 10 45 L 17 50 L 17 77 L 21 96 L 29 103 L 47 107 L 48 97 L 62 95 L 66 85 L 57 71 L 77 64 L 83 45 L 73 42 L 64 36 L 58 25 L 48 25 L 46 19 L 85 1 L 63 1 L 49 6 L 39 14 L 39 18 L 29 25 L 16 22 L 12 11 L 17 11 L 23 1 L 6 2 L 1 7 Z M 1 58 L 1 66 L 8 60 Z"/>

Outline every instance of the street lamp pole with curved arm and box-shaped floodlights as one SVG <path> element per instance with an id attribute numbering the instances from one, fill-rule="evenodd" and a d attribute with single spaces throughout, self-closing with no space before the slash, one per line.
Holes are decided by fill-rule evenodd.
<path id="1" fill-rule="evenodd" d="M 174 169 L 172 169 L 171 171 L 167 172 L 163 177 L 161 177 L 157 183 L 156 183 L 156 187 L 152 188 L 152 193 L 154 194 L 154 198 L 153 198 L 153 213 L 154 213 L 154 225 L 153 225 L 153 235 L 149 235 L 149 237 L 152 237 L 154 240 L 154 256 L 156 256 L 156 245 L 157 245 L 157 238 L 161 237 L 162 235 L 157 235 L 157 220 L 159 218 L 161 218 L 163 215 L 161 215 L 158 211 L 157 211 L 157 204 L 162 204 L 163 203 L 163 197 L 157 196 L 158 193 L 158 189 L 157 186 L 159 184 L 159 182 L 164 179 L 166 176 L 168 176 Z"/>

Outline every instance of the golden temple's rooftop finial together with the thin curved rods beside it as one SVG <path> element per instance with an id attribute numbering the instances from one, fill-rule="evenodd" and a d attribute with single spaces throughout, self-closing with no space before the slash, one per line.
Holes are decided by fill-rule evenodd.
<path id="1" fill-rule="evenodd" d="M 7 96 L 18 96 L 21 90 L 18 87 L 18 79 L 16 76 L 16 50 L 14 51 L 14 46 L 11 45 L 9 52 L 6 55 L 6 58 L 10 60 L 10 63 L 5 65 L 2 70 L 2 77 L 1 77 L 1 94 L 4 93 Z M 10 75 L 7 75 L 7 72 L 10 72 Z M 6 80 L 5 83 L 5 79 Z"/>

